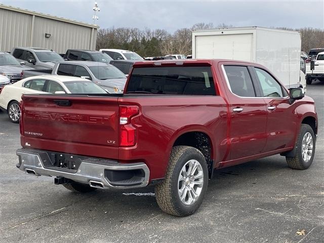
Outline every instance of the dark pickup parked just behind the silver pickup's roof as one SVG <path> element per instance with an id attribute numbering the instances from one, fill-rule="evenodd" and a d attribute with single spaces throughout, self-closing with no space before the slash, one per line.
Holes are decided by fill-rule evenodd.
<path id="1" fill-rule="evenodd" d="M 92 61 L 109 63 L 112 58 L 98 51 L 69 49 L 66 51 L 65 60 L 68 61 Z"/>

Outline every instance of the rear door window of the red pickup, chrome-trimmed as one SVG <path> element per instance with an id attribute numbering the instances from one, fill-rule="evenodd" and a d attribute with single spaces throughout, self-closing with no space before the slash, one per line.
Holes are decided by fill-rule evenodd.
<path id="1" fill-rule="evenodd" d="M 252 79 L 246 66 L 224 66 L 232 93 L 240 97 L 255 97 Z"/>

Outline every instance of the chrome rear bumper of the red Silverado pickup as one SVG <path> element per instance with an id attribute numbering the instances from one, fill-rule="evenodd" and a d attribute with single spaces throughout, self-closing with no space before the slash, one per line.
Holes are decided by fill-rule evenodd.
<path id="1" fill-rule="evenodd" d="M 52 166 L 54 161 L 51 161 L 50 153 L 53 152 L 24 148 L 18 149 L 16 151 L 19 157 L 17 168 L 26 174 L 34 176 L 64 177 L 103 189 L 145 187 L 149 182 L 150 171 L 141 162 L 124 164 L 113 160 L 83 157 L 80 160 L 79 166 L 75 170 L 70 170 Z M 133 177 L 125 179 L 125 176 L 127 177 L 128 175 L 133 175 Z"/>

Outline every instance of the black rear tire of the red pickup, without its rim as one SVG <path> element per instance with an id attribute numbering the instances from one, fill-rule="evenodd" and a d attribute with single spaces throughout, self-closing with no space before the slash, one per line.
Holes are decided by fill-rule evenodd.
<path id="1" fill-rule="evenodd" d="M 185 205 L 182 203 L 178 193 L 178 178 L 181 173 L 181 169 L 185 165 L 188 165 L 189 160 L 191 159 L 198 161 L 198 164 L 201 166 L 199 169 L 203 174 L 203 178 L 201 179 L 202 186 L 199 187 L 200 194 L 198 195 L 197 199 L 191 205 Z M 189 146 L 173 147 L 169 159 L 166 178 L 164 179 L 163 183 L 155 185 L 154 188 L 158 206 L 164 212 L 179 217 L 193 214 L 200 207 L 201 203 L 203 203 L 207 191 L 208 179 L 206 159 L 198 149 Z M 188 185 L 188 187 L 190 187 L 190 185 Z M 195 190 L 197 191 L 197 187 Z M 192 194 L 192 192 L 190 193 Z M 187 197 L 185 196 L 185 198 Z"/>

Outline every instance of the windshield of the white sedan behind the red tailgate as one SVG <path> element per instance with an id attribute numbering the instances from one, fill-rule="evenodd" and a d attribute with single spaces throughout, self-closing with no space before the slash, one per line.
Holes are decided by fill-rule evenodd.
<path id="1" fill-rule="evenodd" d="M 66 88 L 72 94 L 106 94 L 107 92 L 91 81 L 67 81 L 64 82 Z"/>

